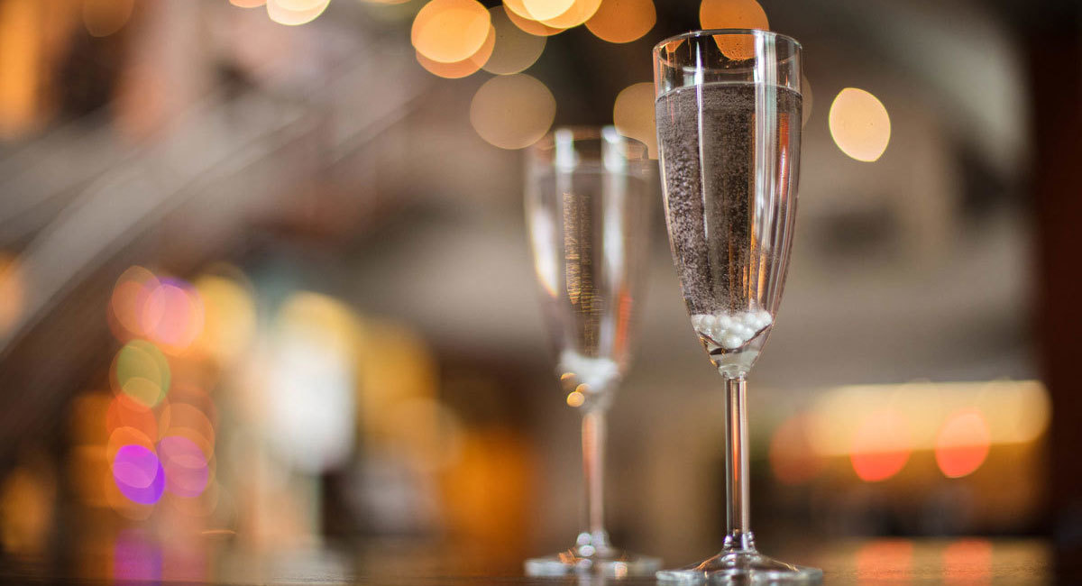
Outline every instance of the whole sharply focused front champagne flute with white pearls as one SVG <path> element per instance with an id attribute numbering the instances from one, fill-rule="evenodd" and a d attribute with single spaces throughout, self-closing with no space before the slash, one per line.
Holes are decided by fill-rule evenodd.
<path id="1" fill-rule="evenodd" d="M 665 219 L 691 325 L 725 381 L 727 534 L 721 554 L 662 581 L 814 581 L 755 549 L 744 379 L 770 334 L 796 219 L 801 45 L 765 30 L 701 30 L 654 49 Z"/>

